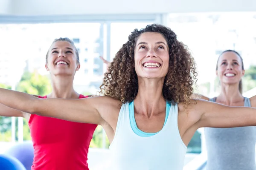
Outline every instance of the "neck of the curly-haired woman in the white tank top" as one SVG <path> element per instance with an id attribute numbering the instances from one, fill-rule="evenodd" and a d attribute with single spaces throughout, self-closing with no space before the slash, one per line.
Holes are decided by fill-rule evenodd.
<path id="1" fill-rule="evenodd" d="M 162 79 L 138 79 L 139 89 L 134 99 L 134 111 L 147 114 L 159 113 L 165 108 L 166 100 L 163 97 Z"/>

